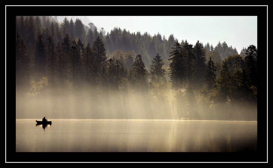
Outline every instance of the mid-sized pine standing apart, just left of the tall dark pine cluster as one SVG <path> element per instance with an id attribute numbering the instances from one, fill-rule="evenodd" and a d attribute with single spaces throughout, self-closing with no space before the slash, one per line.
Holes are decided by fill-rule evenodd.
<path id="1" fill-rule="evenodd" d="M 166 70 L 162 68 L 163 65 L 163 59 L 161 59 L 161 56 L 157 53 L 157 55 L 153 58 L 152 64 L 150 66 L 152 82 L 159 83 L 162 80 L 164 81 Z"/>

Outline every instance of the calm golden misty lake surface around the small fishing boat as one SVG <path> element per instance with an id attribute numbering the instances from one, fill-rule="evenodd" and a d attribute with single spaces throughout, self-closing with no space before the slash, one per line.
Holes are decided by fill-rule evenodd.
<path id="1" fill-rule="evenodd" d="M 16 152 L 257 152 L 257 121 L 16 120 Z"/>

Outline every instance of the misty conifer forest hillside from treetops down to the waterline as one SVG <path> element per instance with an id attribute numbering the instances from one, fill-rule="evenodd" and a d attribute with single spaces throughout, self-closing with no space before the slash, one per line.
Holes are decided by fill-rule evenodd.
<path id="1" fill-rule="evenodd" d="M 257 121 L 257 48 L 16 16 L 16 118 Z"/>

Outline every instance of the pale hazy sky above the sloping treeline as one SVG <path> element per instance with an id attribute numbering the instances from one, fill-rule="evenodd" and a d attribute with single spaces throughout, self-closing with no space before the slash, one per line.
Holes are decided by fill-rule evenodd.
<path id="1" fill-rule="evenodd" d="M 62 16 L 58 17 L 60 22 Z M 68 16 L 69 18 L 69 16 Z M 106 33 L 114 27 L 150 33 L 158 32 L 168 39 L 170 34 L 179 42 L 183 39 L 190 44 L 195 44 L 197 40 L 204 45 L 212 44 L 214 47 L 220 41 L 224 41 L 228 46 L 236 48 L 240 53 L 243 47 L 253 44 L 257 48 L 257 16 L 73 16 L 80 18 L 83 24 L 92 22 L 98 31 L 104 28 Z M 70 19 L 70 18 L 69 18 Z"/>

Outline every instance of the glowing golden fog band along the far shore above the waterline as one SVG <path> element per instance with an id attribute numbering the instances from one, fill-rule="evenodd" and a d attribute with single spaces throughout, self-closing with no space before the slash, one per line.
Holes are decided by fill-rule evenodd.
<path id="1" fill-rule="evenodd" d="M 168 91 L 168 92 L 167 92 Z M 182 92 L 183 93 L 183 92 Z M 157 95 L 157 96 L 154 96 Z M 161 96 L 161 97 L 160 97 Z M 193 105 L 191 105 L 193 104 Z M 174 97 L 171 90 L 147 92 L 98 91 L 87 87 L 78 91 L 51 92 L 31 97 L 17 91 L 16 119 L 201 119 L 257 120 L 257 106 L 233 103 L 232 107 L 207 109 Z M 202 108 L 203 107 L 203 108 Z M 232 114 L 230 110 L 234 111 Z M 177 113 L 178 112 L 178 113 Z M 194 115 L 191 115 L 192 112 Z M 225 117 L 228 116 L 229 117 Z M 247 117 L 245 117 L 247 116 Z M 190 118 L 191 117 L 191 118 Z"/>

